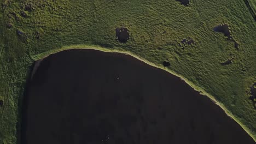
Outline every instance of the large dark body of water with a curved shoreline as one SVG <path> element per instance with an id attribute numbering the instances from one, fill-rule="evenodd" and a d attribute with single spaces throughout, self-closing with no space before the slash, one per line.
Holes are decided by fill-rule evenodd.
<path id="1" fill-rule="evenodd" d="M 22 143 L 255 143 L 178 77 L 120 53 L 45 58 L 25 95 Z"/>

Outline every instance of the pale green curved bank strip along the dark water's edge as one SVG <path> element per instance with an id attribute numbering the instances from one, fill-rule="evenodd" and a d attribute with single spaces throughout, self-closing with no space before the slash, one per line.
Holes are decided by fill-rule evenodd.
<path id="1" fill-rule="evenodd" d="M 218 105 L 225 113 L 227 116 L 229 116 L 230 118 L 234 119 L 234 121 L 239 124 L 243 130 L 246 131 L 246 133 L 251 136 L 253 138 L 253 140 L 256 142 L 256 135 L 253 135 L 252 131 L 249 130 L 248 127 L 246 127 L 246 125 L 242 124 L 238 118 L 236 118 L 228 109 L 226 109 L 226 107 L 220 103 L 219 101 L 217 101 L 211 94 L 207 93 L 205 90 L 203 90 L 202 88 L 200 88 L 199 86 L 194 85 L 193 82 L 189 81 L 188 79 L 186 79 L 185 77 L 183 77 L 182 75 L 176 73 L 175 71 L 172 71 L 168 68 L 163 67 L 162 65 L 158 64 L 156 65 L 155 63 L 149 62 L 147 61 L 145 58 L 139 57 L 137 55 L 135 55 L 132 52 L 129 52 L 127 50 L 117 50 L 117 49 L 108 49 L 106 47 L 101 47 L 101 46 L 96 46 L 96 45 L 70 45 L 70 46 L 65 46 L 65 47 L 61 47 L 59 49 L 54 49 L 54 50 L 50 50 L 50 51 L 46 51 L 43 53 L 39 53 L 37 55 L 33 55 L 31 56 L 31 58 L 33 59 L 33 61 L 38 61 L 38 60 L 42 60 L 45 57 L 48 57 L 50 55 L 53 55 L 55 53 L 61 52 L 61 51 L 65 51 L 65 50 L 72 50 L 72 49 L 83 49 L 83 50 L 98 50 L 98 51 L 103 51 L 103 52 L 116 52 L 116 53 L 123 53 L 125 55 L 130 55 L 136 59 L 138 59 L 139 61 L 142 61 L 152 67 L 155 68 L 159 68 L 162 70 L 167 71 L 168 73 L 179 77 L 179 79 L 185 81 L 185 83 L 187 83 L 191 88 L 193 88 L 195 91 L 199 92 L 201 95 L 205 95 L 208 98 L 210 98 L 213 103 L 215 103 L 216 105 Z"/>

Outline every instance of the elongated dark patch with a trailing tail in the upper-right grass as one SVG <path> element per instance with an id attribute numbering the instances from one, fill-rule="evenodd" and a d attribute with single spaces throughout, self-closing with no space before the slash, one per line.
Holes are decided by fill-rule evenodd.
<path id="1" fill-rule="evenodd" d="M 234 47 L 238 49 L 238 43 L 235 41 L 231 35 L 231 30 L 229 28 L 228 24 L 221 24 L 213 28 L 214 32 L 223 33 L 225 37 L 227 37 L 227 40 L 231 40 L 234 42 Z"/>

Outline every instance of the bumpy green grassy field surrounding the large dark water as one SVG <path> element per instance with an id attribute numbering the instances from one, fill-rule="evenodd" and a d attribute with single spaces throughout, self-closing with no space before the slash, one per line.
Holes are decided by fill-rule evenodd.
<path id="1" fill-rule="evenodd" d="M 168 71 L 212 95 L 256 139 L 249 99 L 256 22 L 244 1 L 191 0 L 187 7 L 175 0 L 1 0 L 0 11 L 0 143 L 19 143 L 20 102 L 33 61 L 71 45 L 129 52 L 157 67 L 170 62 Z M 229 25 L 238 49 L 213 31 L 220 24 Z M 127 43 L 116 40 L 118 27 L 129 29 Z"/>

